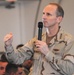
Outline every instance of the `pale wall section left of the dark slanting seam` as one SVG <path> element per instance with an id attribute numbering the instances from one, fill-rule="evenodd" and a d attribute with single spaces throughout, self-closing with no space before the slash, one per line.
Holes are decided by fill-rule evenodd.
<path id="1" fill-rule="evenodd" d="M 3 38 L 13 33 L 13 46 L 26 43 L 33 37 L 34 21 L 39 1 L 19 1 L 15 8 L 0 6 L 0 51 L 4 51 Z"/>

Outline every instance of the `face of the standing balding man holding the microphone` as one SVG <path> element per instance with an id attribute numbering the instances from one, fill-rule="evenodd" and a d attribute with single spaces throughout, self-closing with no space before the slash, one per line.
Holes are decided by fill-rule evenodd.
<path id="1" fill-rule="evenodd" d="M 44 23 L 44 27 L 48 28 L 53 25 L 58 24 L 58 17 L 56 15 L 57 6 L 48 5 L 43 10 L 42 21 Z"/>

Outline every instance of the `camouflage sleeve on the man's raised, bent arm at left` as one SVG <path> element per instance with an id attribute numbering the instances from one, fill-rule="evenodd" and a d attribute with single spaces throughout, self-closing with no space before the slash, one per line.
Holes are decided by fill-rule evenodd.
<path id="1" fill-rule="evenodd" d="M 25 60 L 30 59 L 33 56 L 34 40 L 35 38 L 18 50 L 14 50 L 12 45 L 5 46 L 5 53 L 8 61 L 15 64 L 22 64 Z"/>

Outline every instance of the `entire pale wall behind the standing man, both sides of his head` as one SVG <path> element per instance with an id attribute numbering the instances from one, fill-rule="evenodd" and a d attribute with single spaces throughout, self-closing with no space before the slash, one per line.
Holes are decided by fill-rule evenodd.
<path id="1" fill-rule="evenodd" d="M 60 2 L 65 10 L 61 25 L 74 35 L 74 0 L 23 0 L 13 9 L 0 6 L 0 51 L 4 51 L 3 38 L 9 32 L 14 35 L 14 47 L 37 35 L 37 23 L 41 21 L 42 10 L 49 2 Z"/>

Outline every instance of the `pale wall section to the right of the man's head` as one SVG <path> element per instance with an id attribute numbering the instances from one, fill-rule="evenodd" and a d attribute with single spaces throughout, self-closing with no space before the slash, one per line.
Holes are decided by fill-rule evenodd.
<path id="1" fill-rule="evenodd" d="M 63 0 L 61 5 L 65 12 L 61 26 L 74 36 L 74 0 Z"/>

